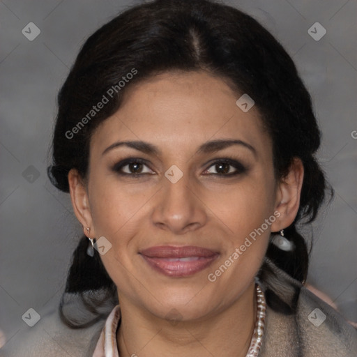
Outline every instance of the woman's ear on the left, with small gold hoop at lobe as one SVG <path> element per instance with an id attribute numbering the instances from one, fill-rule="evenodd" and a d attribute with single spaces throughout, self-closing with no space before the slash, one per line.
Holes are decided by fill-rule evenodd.
<path id="1" fill-rule="evenodd" d="M 89 207 L 88 192 L 82 176 L 76 169 L 71 169 L 70 172 L 68 172 L 68 185 L 70 187 L 70 199 L 72 201 L 73 211 L 75 211 L 77 220 L 81 223 L 84 234 L 89 238 L 94 238 L 95 232 Z M 89 228 L 89 231 L 87 228 Z"/>

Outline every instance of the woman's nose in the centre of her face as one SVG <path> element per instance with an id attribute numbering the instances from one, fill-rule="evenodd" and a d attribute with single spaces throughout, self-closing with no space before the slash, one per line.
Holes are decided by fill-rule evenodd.
<path id="1" fill-rule="evenodd" d="M 197 185 L 190 184 L 188 175 L 176 183 L 165 177 L 163 187 L 158 192 L 152 220 L 153 224 L 173 234 L 185 234 L 206 224 L 206 206 L 199 197 Z"/>

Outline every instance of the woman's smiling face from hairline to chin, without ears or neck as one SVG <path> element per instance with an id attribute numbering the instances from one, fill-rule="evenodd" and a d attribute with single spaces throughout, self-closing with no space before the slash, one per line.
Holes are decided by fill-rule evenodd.
<path id="1" fill-rule="evenodd" d="M 162 318 L 219 312 L 286 227 L 271 140 L 239 97 L 203 72 L 166 73 L 132 86 L 93 133 L 81 221 L 105 237 L 119 301 Z"/>

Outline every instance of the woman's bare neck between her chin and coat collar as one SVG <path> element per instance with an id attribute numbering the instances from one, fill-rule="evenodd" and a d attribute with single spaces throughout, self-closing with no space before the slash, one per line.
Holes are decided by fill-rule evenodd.
<path id="1" fill-rule="evenodd" d="M 125 298 L 116 340 L 120 357 L 245 357 L 255 328 L 255 283 L 231 305 L 195 321 L 160 319 Z"/>

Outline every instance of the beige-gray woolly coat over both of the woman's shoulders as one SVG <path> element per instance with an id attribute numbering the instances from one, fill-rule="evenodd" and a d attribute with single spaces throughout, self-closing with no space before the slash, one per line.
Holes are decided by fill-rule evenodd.
<path id="1" fill-rule="evenodd" d="M 273 274 L 264 276 L 264 291 L 280 296 L 282 305 L 294 303 L 296 314 L 266 309 L 266 328 L 259 357 L 357 357 L 357 331 L 332 307 L 314 296 L 267 260 Z M 298 288 L 298 289 L 296 289 Z M 270 292 L 271 294 L 271 292 Z M 114 307 L 114 306 L 113 306 Z M 326 320 L 319 326 L 319 316 Z M 310 319 L 309 319 L 310 316 Z M 312 324 L 314 321 L 315 324 Z M 2 357 L 91 357 L 105 320 L 90 328 L 71 330 L 63 325 L 57 311 L 42 316 L 38 324 L 15 335 L 3 349 Z"/>

